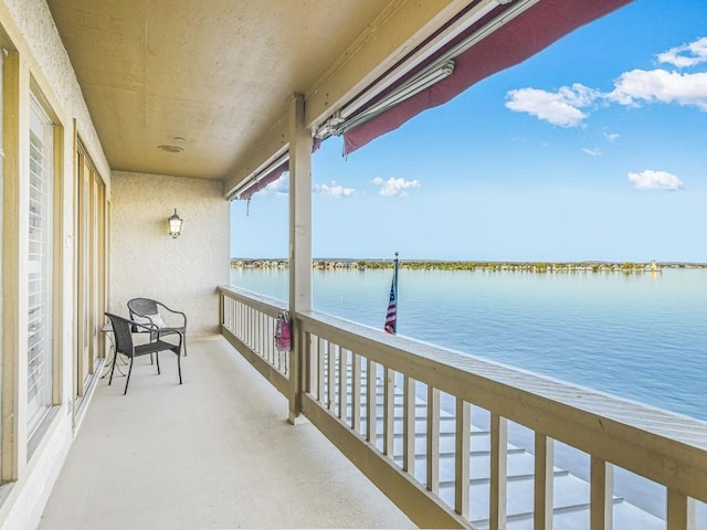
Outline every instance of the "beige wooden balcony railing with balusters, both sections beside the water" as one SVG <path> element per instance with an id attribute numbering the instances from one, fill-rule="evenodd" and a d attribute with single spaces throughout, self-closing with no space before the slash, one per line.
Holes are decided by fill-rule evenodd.
<path id="1" fill-rule="evenodd" d="M 661 528 L 695 529 L 695 500 L 707 501 L 705 422 L 316 311 L 294 316 L 298 346 L 285 357 L 273 346 L 282 303 L 219 292 L 224 337 L 283 394 L 296 382 L 300 412 L 421 527 L 563 528 L 581 506 L 558 506 L 558 441 L 589 455 L 591 530 L 612 528 L 614 467 L 665 487 Z M 508 443 L 516 424 L 532 432 L 525 474 L 509 469 L 530 456 Z M 615 527 L 648 528 L 625 521 Z"/>

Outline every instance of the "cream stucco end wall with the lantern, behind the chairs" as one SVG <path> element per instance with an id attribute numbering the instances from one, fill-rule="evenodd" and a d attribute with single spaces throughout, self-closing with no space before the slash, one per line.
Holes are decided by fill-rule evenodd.
<path id="1" fill-rule="evenodd" d="M 176 155 L 179 156 L 179 155 Z M 221 182 L 114 171 L 110 241 L 110 310 L 154 298 L 182 310 L 188 337 L 218 332 L 215 288 L 229 283 L 229 202 Z M 172 239 L 175 208 L 182 234 Z"/>

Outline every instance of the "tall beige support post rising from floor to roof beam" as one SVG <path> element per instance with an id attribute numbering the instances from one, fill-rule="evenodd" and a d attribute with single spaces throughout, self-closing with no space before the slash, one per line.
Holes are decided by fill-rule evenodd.
<path id="1" fill-rule="evenodd" d="M 289 423 L 300 423 L 304 388 L 303 333 L 297 314 L 312 310 L 312 131 L 304 125 L 305 99 L 289 102 L 289 314 L 294 344 L 289 362 Z"/>

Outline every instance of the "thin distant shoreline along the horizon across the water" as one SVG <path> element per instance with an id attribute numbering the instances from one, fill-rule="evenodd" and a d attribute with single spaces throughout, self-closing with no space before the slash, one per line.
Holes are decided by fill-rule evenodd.
<path id="1" fill-rule="evenodd" d="M 288 268 L 287 259 L 231 258 L 231 268 Z M 315 271 L 392 268 L 392 259 L 315 258 Z M 549 272 L 659 272 L 664 268 L 707 268 L 707 263 L 690 262 L 486 262 L 400 259 L 401 268 L 422 271 L 527 271 Z"/>

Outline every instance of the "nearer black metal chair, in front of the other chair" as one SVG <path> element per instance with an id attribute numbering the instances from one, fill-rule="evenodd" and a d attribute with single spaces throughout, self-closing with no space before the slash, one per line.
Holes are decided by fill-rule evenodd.
<path id="1" fill-rule="evenodd" d="M 177 356 L 177 370 L 179 371 L 179 384 L 181 384 L 181 356 L 179 354 L 181 351 L 183 336 L 181 333 L 176 333 L 179 337 L 179 343 L 173 344 L 171 342 L 166 342 L 160 340 L 159 337 L 146 344 L 136 346 L 133 342 L 133 329 L 139 328 L 145 329 L 150 335 L 159 333 L 157 326 L 154 324 L 140 324 L 134 320 L 128 320 L 127 318 L 118 317 L 117 315 L 113 315 L 110 312 L 106 312 L 106 317 L 110 319 L 110 325 L 113 326 L 113 333 L 115 338 L 115 356 L 113 357 L 113 364 L 110 367 L 110 379 L 108 379 L 108 385 L 113 382 L 113 372 L 115 370 L 115 362 L 118 359 L 118 354 L 122 353 L 130 359 L 130 367 L 128 368 L 127 380 L 125 381 L 125 391 L 123 395 L 128 393 L 128 384 L 130 382 L 130 374 L 133 373 L 133 361 L 136 357 L 140 356 L 151 356 L 155 353 L 157 360 L 157 373 L 160 373 L 159 370 L 159 352 L 160 351 L 171 351 Z M 175 333 L 171 333 L 175 335 Z"/>

